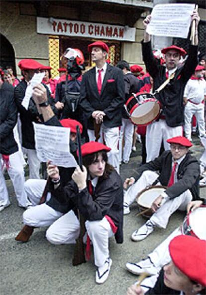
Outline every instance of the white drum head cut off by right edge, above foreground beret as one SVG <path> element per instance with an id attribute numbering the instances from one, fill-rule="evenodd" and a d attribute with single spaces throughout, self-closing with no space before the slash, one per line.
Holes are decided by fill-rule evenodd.
<path id="1" fill-rule="evenodd" d="M 199 239 L 206 240 L 206 206 L 189 214 L 189 225 Z"/>

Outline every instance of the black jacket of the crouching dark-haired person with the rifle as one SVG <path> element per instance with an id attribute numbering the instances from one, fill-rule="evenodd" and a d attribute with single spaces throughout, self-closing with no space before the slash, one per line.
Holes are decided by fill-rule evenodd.
<path id="1" fill-rule="evenodd" d="M 118 227 L 116 241 L 123 242 L 123 184 L 115 170 L 107 179 L 98 179 L 92 196 L 87 188 L 79 192 L 73 180 L 65 187 L 61 183 L 56 190 L 50 183 L 49 190 L 59 202 L 67 203 L 70 210 L 76 212 L 79 209 L 86 220 L 101 220 L 105 215 L 110 216 Z"/>

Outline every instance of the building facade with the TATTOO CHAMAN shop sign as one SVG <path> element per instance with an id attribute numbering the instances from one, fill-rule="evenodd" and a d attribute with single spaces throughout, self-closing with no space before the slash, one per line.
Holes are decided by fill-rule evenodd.
<path id="1" fill-rule="evenodd" d="M 103 40 L 109 46 L 109 60 L 142 64 L 142 19 L 152 9 L 151 1 L 1 1 L 0 65 L 14 66 L 33 58 L 53 68 L 62 66 L 61 55 L 68 47 L 82 50 L 91 65 L 87 45 Z"/>

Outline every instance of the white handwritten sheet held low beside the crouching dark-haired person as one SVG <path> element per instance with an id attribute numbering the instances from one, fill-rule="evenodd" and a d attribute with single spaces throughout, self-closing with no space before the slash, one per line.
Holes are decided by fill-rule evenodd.
<path id="1" fill-rule="evenodd" d="M 76 167 L 77 162 L 70 153 L 70 128 L 34 125 L 37 157 L 41 162 L 50 160 L 62 167 Z"/>

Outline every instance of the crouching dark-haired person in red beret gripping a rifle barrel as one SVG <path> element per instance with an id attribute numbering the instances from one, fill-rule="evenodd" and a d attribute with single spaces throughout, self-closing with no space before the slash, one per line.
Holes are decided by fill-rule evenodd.
<path id="1" fill-rule="evenodd" d="M 83 171 L 77 167 L 73 180 L 64 187 L 58 168 L 52 166 L 48 169 L 52 180 L 50 191 L 59 202 L 68 206 L 69 212 L 49 227 L 46 237 L 53 244 L 75 243 L 80 231 L 79 209 L 86 220 L 86 248 L 90 240 L 93 244 L 98 284 L 106 281 L 112 265 L 109 238 L 115 235 L 117 243 L 123 242 L 123 184 L 113 166 L 107 162 L 110 150 L 98 142 L 83 144 Z"/>

